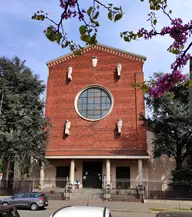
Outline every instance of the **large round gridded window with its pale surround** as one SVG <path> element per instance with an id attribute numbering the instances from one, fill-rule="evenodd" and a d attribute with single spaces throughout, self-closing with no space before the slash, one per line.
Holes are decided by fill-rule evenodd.
<path id="1" fill-rule="evenodd" d="M 80 91 L 75 100 L 77 113 L 86 120 L 104 118 L 113 106 L 111 93 L 101 86 L 89 86 Z"/>

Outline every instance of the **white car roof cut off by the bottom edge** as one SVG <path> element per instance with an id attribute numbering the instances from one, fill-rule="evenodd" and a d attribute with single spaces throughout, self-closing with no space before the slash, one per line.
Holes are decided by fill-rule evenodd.
<path id="1" fill-rule="evenodd" d="M 56 210 L 50 217 L 112 217 L 107 207 L 65 206 Z"/>

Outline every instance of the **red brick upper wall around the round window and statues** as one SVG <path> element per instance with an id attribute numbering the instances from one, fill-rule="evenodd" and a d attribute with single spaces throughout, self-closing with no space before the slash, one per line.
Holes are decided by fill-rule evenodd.
<path id="1" fill-rule="evenodd" d="M 92 56 L 98 58 L 96 68 L 92 66 Z M 115 79 L 117 62 L 122 64 L 119 80 Z M 73 67 L 73 80 L 67 83 L 69 65 Z M 96 49 L 50 67 L 46 116 L 52 129 L 47 155 L 143 154 L 146 133 L 139 121 L 139 114 L 144 112 L 143 96 L 141 91 L 131 87 L 134 76 L 137 81 L 143 81 L 142 67 L 143 62 Z M 111 113 L 96 122 L 82 119 L 74 107 L 77 93 L 90 84 L 106 87 L 114 97 Z M 120 136 L 116 133 L 118 118 L 123 121 Z M 64 137 L 66 120 L 71 122 L 67 138 Z"/>

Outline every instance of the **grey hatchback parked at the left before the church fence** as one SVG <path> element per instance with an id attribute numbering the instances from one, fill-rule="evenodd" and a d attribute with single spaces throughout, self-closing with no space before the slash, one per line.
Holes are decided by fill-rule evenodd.
<path id="1" fill-rule="evenodd" d="M 48 198 L 39 192 L 17 193 L 11 197 L 2 198 L 0 204 L 14 205 L 17 208 L 30 208 L 31 210 L 43 209 L 48 206 Z"/>

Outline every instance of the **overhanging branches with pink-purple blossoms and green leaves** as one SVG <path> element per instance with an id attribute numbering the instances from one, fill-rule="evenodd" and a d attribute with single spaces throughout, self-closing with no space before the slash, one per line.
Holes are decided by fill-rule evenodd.
<path id="1" fill-rule="evenodd" d="M 147 0 L 140 0 L 141 2 Z M 192 20 L 188 23 L 183 23 L 181 18 L 172 18 L 172 11 L 168 10 L 168 0 L 148 0 L 151 12 L 148 14 L 148 21 L 151 23 L 151 29 L 140 28 L 137 32 L 124 31 L 120 33 L 120 37 L 126 42 L 132 40 L 138 40 L 143 38 L 149 40 L 156 36 L 168 36 L 173 39 L 173 43 L 168 48 L 168 51 L 176 55 L 175 61 L 171 65 L 172 72 L 164 74 L 159 78 L 156 83 L 137 84 L 143 90 L 147 91 L 153 97 L 160 97 L 165 92 L 169 91 L 171 87 L 178 82 L 184 82 L 186 77 L 182 75 L 181 68 L 183 68 L 190 59 L 189 50 L 192 46 L 190 41 L 192 33 Z M 67 19 L 77 18 L 80 25 L 79 33 L 81 40 L 87 45 L 97 44 L 97 32 L 100 26 L 98 21 L 100 8 L 104 8 L 108 11 L 108 19 L 110 21 L 118 21 L 123 15 L 123 9 L 121 6 L 115 7 L 113 4 L 106 4 L 104 0 L 93 0 L 92 5 L 87 9 L 83 9 L 80 6 L 79 0 L 60 0 L 60 7 L 62 13 L 60 15 L 59 22 L 55 22 L 50 19 L 47 13 L 44 11 L 37 11 L 32 19 L 34 20 L 49 20 L 51 25 L 44 31 L 46 37 L 52 41 L 57 42 L 62 48 L 69 47 L 71 51 L 79 53 L 82 47 L 76 44 L 73 40 L 68 39 L 67 32 L 65 32 L 63 23 Z M 169 25 L 164 26 L 161 30 L 157 30 L 158 20 L 156 18 L 156 12 L 162 11 L 167 16 Z"/>

